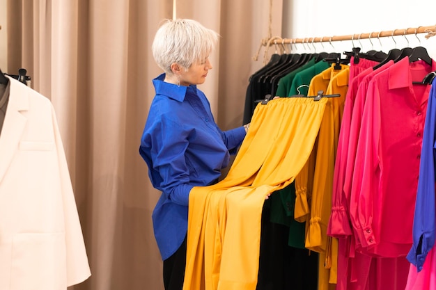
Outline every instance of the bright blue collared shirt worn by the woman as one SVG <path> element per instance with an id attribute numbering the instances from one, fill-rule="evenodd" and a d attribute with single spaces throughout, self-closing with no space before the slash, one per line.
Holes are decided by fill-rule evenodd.
<path id="1" fill-rule="evenodd" d="M 228 166 L 245 136 L 244 127 L 221 131 L 210 103 L 196 86 L 153 80 L 150 106 L 139 153 L 148 176 L 162 195 L 153 211 L 153 229 L 162 259 L 180 247 L 187 233 L 189 191 L 212 184 Z"/>

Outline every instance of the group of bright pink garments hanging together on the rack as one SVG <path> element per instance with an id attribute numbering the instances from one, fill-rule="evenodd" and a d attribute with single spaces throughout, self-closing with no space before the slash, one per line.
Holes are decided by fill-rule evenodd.
<path id="1" fill-rule="evenodd" d="M 338 289 L 405 289 L 430 91 L 423 79 L 435 69 L 412 53 L 350 75 L 327 230 L 340 244 Z"/>

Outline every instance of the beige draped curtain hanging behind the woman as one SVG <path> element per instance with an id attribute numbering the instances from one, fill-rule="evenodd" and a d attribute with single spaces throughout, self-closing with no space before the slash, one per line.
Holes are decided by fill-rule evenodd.
<path id="1" fill-rule="evenodd" d="M 160 74 L 150 54 L 173 1 L 8 0 L 8 67 L 24 67 L 52 100 L 91 277 L 87 290 L 163 289 L 148 181 L 139 140 Z M 221 129 L 242 124 L 249 76 L 263 66 L 260 41 L 281 34 L 281 0 L 179 0 L 178 18 L 219 32 L 214 69 L 201 89 Z"/>

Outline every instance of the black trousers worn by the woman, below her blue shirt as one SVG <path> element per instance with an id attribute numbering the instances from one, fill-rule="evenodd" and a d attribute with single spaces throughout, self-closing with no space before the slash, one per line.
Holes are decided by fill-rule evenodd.
<path id="1" fill-rule="evenodd" d="M 165 290 L 182 290 L 185 278 L 186 264 L 186 237 L 180 248 L 164 260 L 164 287 Z"/>

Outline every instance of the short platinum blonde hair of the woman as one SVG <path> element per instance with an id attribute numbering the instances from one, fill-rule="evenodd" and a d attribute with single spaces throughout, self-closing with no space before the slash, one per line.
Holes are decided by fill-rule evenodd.
<path id="1" fill-rule="evenodd" d="M 171 64 L 187 70 L 193 63 L 204 61 L 215 49 L 218 33 L 192 19 L 166 19 L 153 40 L 152 51 L 157 65 L 172 74 Z"/>

